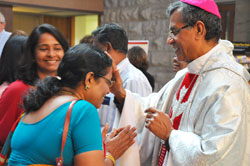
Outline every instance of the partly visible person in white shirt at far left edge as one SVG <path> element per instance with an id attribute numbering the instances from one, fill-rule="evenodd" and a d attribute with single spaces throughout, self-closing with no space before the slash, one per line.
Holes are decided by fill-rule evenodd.
<path id="1" fill-rule="evenodd" d="M 3 13 L 0 12 L 0 41 L 1 41 L 0 42 L 0 58 L 2 55 L 3 47 L 11 35 L 11 32 L 5 31 L 4 29 L 5 26 L 6 26 L 5 17 Z"/>

